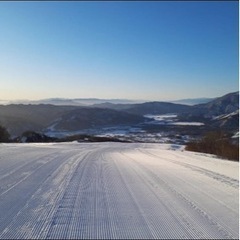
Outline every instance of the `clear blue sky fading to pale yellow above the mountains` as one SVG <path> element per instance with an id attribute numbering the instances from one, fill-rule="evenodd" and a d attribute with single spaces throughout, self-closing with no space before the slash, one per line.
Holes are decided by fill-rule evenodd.
<path id="1" fill-rule="evenodd" d="M 237 1 L 0 2 L 0 99 L 239 89 Z"/>

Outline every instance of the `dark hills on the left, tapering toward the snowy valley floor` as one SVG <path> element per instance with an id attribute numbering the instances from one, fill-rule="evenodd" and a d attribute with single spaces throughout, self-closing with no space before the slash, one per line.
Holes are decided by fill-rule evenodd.
<path id="1" fill-rule="evenodd" d="M 54 125 L 58 130 L 81 130 L 91 127 L 136 124 L 142 116 L 111 109 L 54 105 L 6 105 L 0 106 L 0 124 L 12 136 L 24 131 L 43 131 Z"/>

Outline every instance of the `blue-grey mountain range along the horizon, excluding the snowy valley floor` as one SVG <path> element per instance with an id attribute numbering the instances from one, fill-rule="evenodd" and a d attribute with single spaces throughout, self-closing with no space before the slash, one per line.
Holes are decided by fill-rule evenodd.
<path id="1" fill-rule="evenodd" d="M 0 124 L 12 136 L 24 131 L 78 131 L 89 128 L 130 126 L 149 119 L 146 114 L 175 113 L 180 120 L 202 121 L 206 125 L 238 129 L 239 92 L 193 106 L 170 102 L 135 103 L 129 100 L 48 99 L 44 104 L 0 105 Z M 85 103 L 85 106 L 79 106 Z M 51 104 L 50 104 L 51 103 Z M 78 103 L 78 105 L 77 105 Z M 218 116 L 222 116 L 219 117 Z M 224 117 L 225 116 L 225 117 Z"/>

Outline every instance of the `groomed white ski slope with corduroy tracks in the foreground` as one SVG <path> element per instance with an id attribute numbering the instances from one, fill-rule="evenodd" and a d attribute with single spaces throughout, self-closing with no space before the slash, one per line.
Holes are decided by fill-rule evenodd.
<path id="1" fill-rule="evenodd" d="M 239 237 L 238 163 L 177 145 L 0 145 L 2 239 Z"/>

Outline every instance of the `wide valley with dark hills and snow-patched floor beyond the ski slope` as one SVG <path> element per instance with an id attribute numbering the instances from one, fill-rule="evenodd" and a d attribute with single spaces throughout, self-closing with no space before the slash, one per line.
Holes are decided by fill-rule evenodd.
<path id="1" fill-rule="evenodd" d="M 0 105 L 0 125 L 7 129 L 12 139 L 20 141 L 26 131 L 54 138 L 87 134 L 130 142 L 178 144 L 219 130 L 231 138 L 239 132 L 239 92 L 192 106 L 121 101 L 95 101 L 88 106 Z"/>

